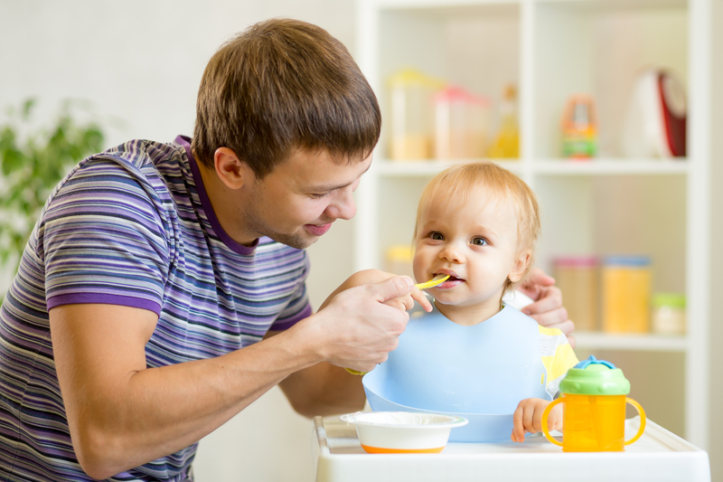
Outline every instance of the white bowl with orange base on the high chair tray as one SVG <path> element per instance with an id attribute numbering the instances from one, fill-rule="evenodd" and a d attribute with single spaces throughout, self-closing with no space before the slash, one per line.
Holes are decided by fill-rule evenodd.
<path id="1" fill-rule="evenodd" d="M 412 411 L 358 411 L 340 418 L 354 424 L 362 449 L 374 454 L 438 453 L 450 430 L 467 424 L 464 417 Z"/>

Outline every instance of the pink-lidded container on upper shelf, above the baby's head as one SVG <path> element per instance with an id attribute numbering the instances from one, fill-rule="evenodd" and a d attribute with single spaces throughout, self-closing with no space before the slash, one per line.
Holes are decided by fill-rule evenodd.
<path id="1" fill-rule="evenodd" d="M 484 156 L 489 126 L 489 99 L 461 87 L 434 96 L 435 157 L 469 159 Z"/>

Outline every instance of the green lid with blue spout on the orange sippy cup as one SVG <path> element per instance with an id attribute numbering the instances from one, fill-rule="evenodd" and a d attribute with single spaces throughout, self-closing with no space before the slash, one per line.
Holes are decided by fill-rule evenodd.
<path id="1" fill-rule="evenodd" d="M 559 391 L 570 395 L 627 395 L 630 382 L 621 369 L 591 354 L 568 370 L 559 383 Z"/>

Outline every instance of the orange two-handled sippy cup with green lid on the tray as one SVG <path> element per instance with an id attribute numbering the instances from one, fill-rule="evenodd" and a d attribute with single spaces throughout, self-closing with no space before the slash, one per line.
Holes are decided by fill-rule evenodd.
<path id="1" fill-rule="evenodd" d="M 643 435 L 645 411 L 640 403 L 625 396 L 630 392 L 630 382 L 614 364 L 590 355 L 569 369 L 559 391 L 559 399 L 542 413 L 542 431 L 563 452 L 622 452 L 625 445 Z M 549 411 L 558 403 L 565 403 L 562 443 L 548 430 Z M 640 429 L 629 440 L 625 440 L 625 403 L 632 404 L 641 419 Z"/>

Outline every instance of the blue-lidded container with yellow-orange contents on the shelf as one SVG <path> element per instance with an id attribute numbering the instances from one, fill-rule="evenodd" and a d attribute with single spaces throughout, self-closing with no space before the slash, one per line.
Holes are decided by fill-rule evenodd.
<path id="1" fill-rule="evenodd" d="M 653 278 L 650 258 L 607 256 L 601 278 L 603 331 L 648 333 Z"/>

